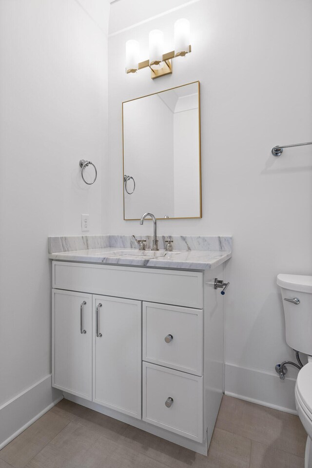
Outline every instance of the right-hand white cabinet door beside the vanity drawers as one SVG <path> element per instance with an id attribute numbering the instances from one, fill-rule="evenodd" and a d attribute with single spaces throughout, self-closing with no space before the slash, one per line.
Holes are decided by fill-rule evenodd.
<path id="1" fill-rule="evenodd" d="M 93 401 L 141 418 L 141 302 L 93 296 Z"/>

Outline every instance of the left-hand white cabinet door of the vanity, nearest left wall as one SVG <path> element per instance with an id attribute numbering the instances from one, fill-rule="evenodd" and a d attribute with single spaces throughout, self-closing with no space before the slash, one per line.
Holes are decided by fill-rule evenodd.
<path id="1" fill-rule="evenodd" d="M 92 400 L 92 296 L 52 290 L 52 385 Z"/>

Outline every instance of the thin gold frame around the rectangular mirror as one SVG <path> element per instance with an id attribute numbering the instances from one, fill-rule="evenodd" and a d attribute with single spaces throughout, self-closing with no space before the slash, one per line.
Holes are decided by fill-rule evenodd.
<path id="1" fill-rule="evenodd" d="M 147 94 L 145 96 L 140 96 L 139 98 L 128 99 L 127 101 L 122 102 L 122 194 L 123 194 L 123 219 L 124 221 L 139 221 L 140 218 L 126 218 L 125 217 L 125 185 L 124 185 L 124 176 L 125 176 L 125 165 L 124 165 L 124 131 L 123 131 L 123 105 L 127 102 L 136 101 L 137 99 L 148 98 L 149 96 L 154 96 L 155 94 L 165 93 L 166 91 L 171 91 L 176 88 L 182 88 L 183 86 L 188 86 L 189 84 L 197 83 L 198 91 L 198 148 L 199 148 L 199 216 L 187 216 L 187 217 L 169 217 L 169 218 L 156 218 L 156 219 L 199 219 L 202 217 L 202 202 L 201 202 L 201 139 L 200 139 L 200 82 L 191 81 L 190 83 L 182 84 L 180 86 L 175 86 L 174 88 L 164 89 L 163 91 L 158 91 L 157 93 Z M 146 218 L 148 220 L 148 218 Z"/>

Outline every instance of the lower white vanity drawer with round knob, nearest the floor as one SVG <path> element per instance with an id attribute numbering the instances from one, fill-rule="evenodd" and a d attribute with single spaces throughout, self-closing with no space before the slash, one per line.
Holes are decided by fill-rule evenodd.
<path id="1" fill-rule="evenodd" d="M 201 443 L 203 377 L 143 362 L 142 419 Z"/>

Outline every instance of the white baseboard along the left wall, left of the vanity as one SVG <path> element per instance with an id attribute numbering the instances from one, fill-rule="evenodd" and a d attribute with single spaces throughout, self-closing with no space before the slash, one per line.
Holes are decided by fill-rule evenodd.
<path id="1" fill-rule="evenodd" d="M 51 374 L 0 406 L 0 449 L 63 398 L 51 386 Z"/>

